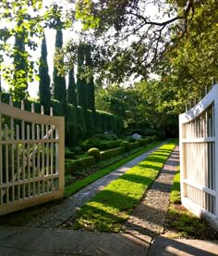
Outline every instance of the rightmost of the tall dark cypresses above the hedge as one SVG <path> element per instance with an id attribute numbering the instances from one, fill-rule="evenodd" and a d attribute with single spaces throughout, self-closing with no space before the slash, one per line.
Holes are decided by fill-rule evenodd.
<path id="1" fill-rule="evenodd" d="M 91 60 L 91 45 L 86 45 L 86 66 L 88 70 L 92 70 L 92 60 Z M 93 75 L 88 77 L 87 83 L 87 108 L 95 111 L 94 103 L 94 78 Z"/>

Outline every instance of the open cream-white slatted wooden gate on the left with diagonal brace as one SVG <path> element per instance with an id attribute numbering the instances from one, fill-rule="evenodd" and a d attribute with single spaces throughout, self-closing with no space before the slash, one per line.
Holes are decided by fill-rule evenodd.
<path id="1" fill-rule="evenodd" d="M 0 215 L 63 197 L 64 126 L 0 99 Z"/>

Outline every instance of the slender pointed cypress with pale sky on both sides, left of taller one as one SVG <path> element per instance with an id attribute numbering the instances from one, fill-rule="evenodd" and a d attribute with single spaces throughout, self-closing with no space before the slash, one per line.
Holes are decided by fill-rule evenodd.
<path id="1" fill-rule="evenodd" d="M 48 112 L 51 105 L 51 91 L 50 91 L 50 77 L 48 73 L 48 63 L 47 63 L 47 45 L 45 34 L 43 33 L 42 47 L 41 47 L 41 58 L 40 58 L 40 103 L 44 106 L 46 112 Z"/>

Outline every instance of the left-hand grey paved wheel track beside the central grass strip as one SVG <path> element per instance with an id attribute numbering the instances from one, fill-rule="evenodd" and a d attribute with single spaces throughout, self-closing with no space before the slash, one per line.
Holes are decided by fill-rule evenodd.
<path id="1" fill-rule="evenodd" d="M 57 227 L 58 225 L 65 222 L 69 217 L 73 216 L 75 212 L 78 211 L 83 204 L 88 202 L 97 192 L 103 190 L 104 186 L 107 186 L 109 183 L 117 179 L 120 175 L 126 173 L 127 170 L 138 164 L 141 160 L 146 159 L 152 151 L 156 150 L 163 144 L 154 147 L 146 153 L 140 155 L 138 158 L 127 162 L 120 168 L 116 169 L 114 172 L 103 176 L 103 178 L 92 183 L 90 186 L 86 186 L 72 197 L 67 198 L 58 205 L 55 205 L 50 210 L 41 213 L 36 218 L 31 218 L 30 222 L 27 225 L 30 227 L 42 228 Z"/>

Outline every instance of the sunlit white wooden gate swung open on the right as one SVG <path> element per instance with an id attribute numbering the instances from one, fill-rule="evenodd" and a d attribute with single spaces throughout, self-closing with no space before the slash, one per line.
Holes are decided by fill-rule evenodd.
<path id="1" fill-rule="evenodd" d="M 181 198 L 218 230 L 218 84 L 179 115 Z"/>

